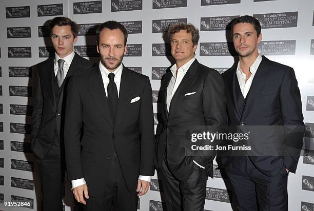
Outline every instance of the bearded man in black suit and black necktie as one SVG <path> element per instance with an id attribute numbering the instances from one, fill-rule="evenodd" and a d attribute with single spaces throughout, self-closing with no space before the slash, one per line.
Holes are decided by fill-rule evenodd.
<path id="1" fill-rule="evenodd" d="M 99 67 L 71 77 L 68 85 L 68 175 L 85 210 L 109 210 L 112 203 L 115 210 L 136 210 L 154 174 L 150 81 L 122 64 L 123 25 L 108 21 L 96 34 Z"/>

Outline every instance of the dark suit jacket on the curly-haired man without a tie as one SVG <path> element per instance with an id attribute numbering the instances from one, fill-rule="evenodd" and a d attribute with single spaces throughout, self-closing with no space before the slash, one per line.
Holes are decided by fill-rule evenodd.
<path id="1" fill-rule="evenodd" d="M 171 71 L 161 82 L 161 121 L 158 125 L 157 166 L 161 167 L 165 150 L 171 172 L 180 180 L 188 178 L 193 171 L 193 160 L 204 166 L 212 177 L 212 160 L 215 151 L 202 155 L 186 156 L 186 144 L 191 143 L 193 126 L 220 126 L 227 124 L 226 98 L 220 74 L 196 59 L 186 72 L 178 89 L 172 97 L 167 111 L 167 87 L 172 77 Z M 186 95 L 186 93 L 192 93 Z M 197 128 L 197 127 L 196 127 Z M 205 127 L 206 128 L 206 127 Z M 200 131 L 199 131 L 200 132 Z"/>

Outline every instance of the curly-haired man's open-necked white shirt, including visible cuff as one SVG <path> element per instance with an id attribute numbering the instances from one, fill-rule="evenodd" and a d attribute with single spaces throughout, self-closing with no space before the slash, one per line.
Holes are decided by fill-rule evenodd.
<path id="1" fill-rule="evenodd" d="M 188 62 L 186 62 L 183 66 L 181 66 L 178 69 L 178 73 L 175 72 L 176 70 L 176 64 L 174 64 L 170 70 L 172 73 L 172 77 L 169 81 L 169 85 L 167 87 L 167 111 L 169 112 L 169 108 L 170 108 L 170 103 L 171 103 L 171 99 L 173 97 L 173 95 L 175 94 L 176 90 L 178 89 L 183 77 L 185 76 L 186 72 L 189 70 L 190 66 L 192 65 L 192 63 L 194 62 L 195 57 L 193 57 L 192 59 L 190 59 Z M 195 162 L 195 160 L 193 160 L 193 162 L 195 164 L 197 164 L 198 166 L 200 166 L 201 168 L 205 168 L 204 166 L 200 165 L 199 163 Z"/>

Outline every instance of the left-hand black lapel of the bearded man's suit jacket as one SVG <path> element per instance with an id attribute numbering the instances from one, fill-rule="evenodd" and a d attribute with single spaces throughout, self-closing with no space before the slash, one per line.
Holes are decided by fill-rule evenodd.
<path id="1" fill-rule="evenodd" d="M 87 89 L 94 100 L 96 108 L 101 112 L 105 120 L 113 128 L 113 121 L 109 112 L 107 96 L 104 88 L 104 82 L 99 67 L 91 70 L 90 77 L 86 80 Z"/>

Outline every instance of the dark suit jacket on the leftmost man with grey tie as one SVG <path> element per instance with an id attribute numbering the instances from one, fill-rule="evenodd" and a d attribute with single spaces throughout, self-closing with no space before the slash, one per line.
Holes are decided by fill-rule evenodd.
<path id="1" fill-rule="evenodd" d="M 75 53 L 58 99 L 54 92 L 53 66 L 54 57 L 38 64 L 34 82 L 31 145 L 38 162 L 42 161 L 49 152 L 55 133 L 57 133 L 58 140 L 63 142 L 63 98 L 69 78 L 73 74 L 91 68 L 93 63 Z"/>

